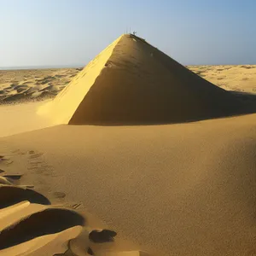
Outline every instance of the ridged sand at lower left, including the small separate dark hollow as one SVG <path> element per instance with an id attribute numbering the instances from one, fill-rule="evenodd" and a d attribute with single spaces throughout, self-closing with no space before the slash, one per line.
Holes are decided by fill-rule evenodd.
<path id="1" fill-rule="evenodd" d="M 32 189 L 23 189 L 14 183 L 1 184 L 0 195 L 0 254 L 3 256 L 149 255 L 121 249 L 122 245 L 119 247 L 114 241 L 116 232 L 94 230 L 88 225 L 87 217 L 85 221 L 84 214 L 61 205 L 49 206 L 44 195 Z"/>

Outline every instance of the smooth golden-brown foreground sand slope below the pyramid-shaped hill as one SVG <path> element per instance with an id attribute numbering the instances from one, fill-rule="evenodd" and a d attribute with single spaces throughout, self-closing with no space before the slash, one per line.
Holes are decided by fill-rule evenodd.
<path id="1" fill-rule="evenodd" d="M 24 181 L 64 191 L 157 255 L 255 253 L 256 115 L 181 125 L 59 125 L 5 137 L 51 168 Z M 5 146 L 4 146 L 5 145 Z M 29 167 L 29 166 L 28 166 Z"/>

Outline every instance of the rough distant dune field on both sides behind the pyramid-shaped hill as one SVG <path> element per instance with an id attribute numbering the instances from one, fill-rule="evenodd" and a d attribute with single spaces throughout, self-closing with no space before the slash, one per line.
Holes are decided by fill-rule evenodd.
<path id="1" fill-rule="evenodd" d="M 256 65 L 219 65 L 219 66 L 187 66 L 191 71 L 200 75 L 225 90 L 256 94 Z M 52 98 L 63 90 L 67 84 L 82 70 L 82 68 L 53 68 L 32 70 L 0 70 L 0 104 L 14 104 L 24 101 L 42 101 Z M 23 84 L 24 90 L 22 90 Z M 56 87 L 50 87 L 55 84 Z M 41 96 L 39 93 L 31 96 L 9 97 L 18 92 L 13 89 L 21 86 L 20 93 L 25 94 L 26 89 L 32 88 L 34 92 L 47 90 Z M 26 87 L 26 88 L 25 88 Z M 56 90 L 57 89 L 57 90 Z"/>

